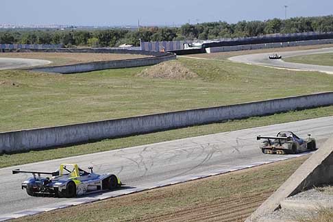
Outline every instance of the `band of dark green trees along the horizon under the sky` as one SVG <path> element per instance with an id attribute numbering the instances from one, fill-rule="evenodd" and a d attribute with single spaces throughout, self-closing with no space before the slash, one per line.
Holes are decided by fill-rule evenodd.
<path id="1" fill-rule="evenodd" d="M 139 46 L 140 40 L 207 40 L 216 38 L 236 38 L 260 36 L 262 34 L 297 32 L 333 32 L 333 16 L 296 17 L 282 20 L 273 18 L 267 21 L 224 21 L 185 24 L 181 27 L 140 27 L 128 29 L 48 29 L 48 30 L 1 30 L 2 44 L 62 44 L 65 47 L 118 47 L 124 43 Z"/>

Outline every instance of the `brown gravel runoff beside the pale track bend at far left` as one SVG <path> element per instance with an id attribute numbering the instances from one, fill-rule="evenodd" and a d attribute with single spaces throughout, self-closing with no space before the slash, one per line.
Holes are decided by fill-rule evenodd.
<path id="1" fill-rule="evenodd" d="M 0 53 L 0 58 L 29 58 L 38 60 L 49 60 L 49 65 L 77 64 L 82 62 L 100 62 L 110 60 L 129 60 L 137 58 L 148 58 L 151 56 L 112 53 Z"/>

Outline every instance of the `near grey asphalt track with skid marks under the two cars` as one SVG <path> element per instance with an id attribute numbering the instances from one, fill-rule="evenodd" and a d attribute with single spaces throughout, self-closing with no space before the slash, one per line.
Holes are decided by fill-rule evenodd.
<path id="1" fill-rule="evenodd" d="M 123 183 L 135 187 L 182 175 L 269 160 L 273 156 L 263 154 L 258 148 L 258 135 L 275 136 L 284 130 L 292 130 L 301 137 L 310 133 L 317 138 L 320 147 L 333 136 L 332 123 L 333 116 L 0 169 L 0 214 L 68 201 L 53 197 L 29 197 L 25 190 L 21 190 L 21 182 L 31 175 L 12 175 L 13 169 L 55 171 L 61 163 L 77 163 L 82 169 L 93 166 L 96 173 L 119 175 Z"/>

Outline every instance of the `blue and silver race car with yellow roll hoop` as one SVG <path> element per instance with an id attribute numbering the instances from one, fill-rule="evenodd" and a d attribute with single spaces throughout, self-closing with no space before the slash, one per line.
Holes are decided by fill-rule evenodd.
<path id="1" fill-rule="evenodd" d="M 32 173 L 33 177 L 22 183 L 22 189 L 25 188 L 30 196 L 54 195 L 68 198 L 112 190 L 123 185 L 116 175 L 99 175 L 93 173 L 93 167 L 88 169 L 90 169 L 90 173 L 77 167 L 77 164 L 60 164 L 60 169 L 52 173 L 20 171 L 19 169 L 12 173 Z M 52 177 L 40 177 L 42 174 Z"/>

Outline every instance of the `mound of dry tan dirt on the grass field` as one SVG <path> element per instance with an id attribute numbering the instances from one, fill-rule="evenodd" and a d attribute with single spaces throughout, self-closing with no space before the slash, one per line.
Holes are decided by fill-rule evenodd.
<path id="1" fill-rule="evenodd" d="M 197 73 L 190 71 L 180 62 L 162 62 L 141 71 L 140 77 L 163 79 L 195 79 Z"/>

